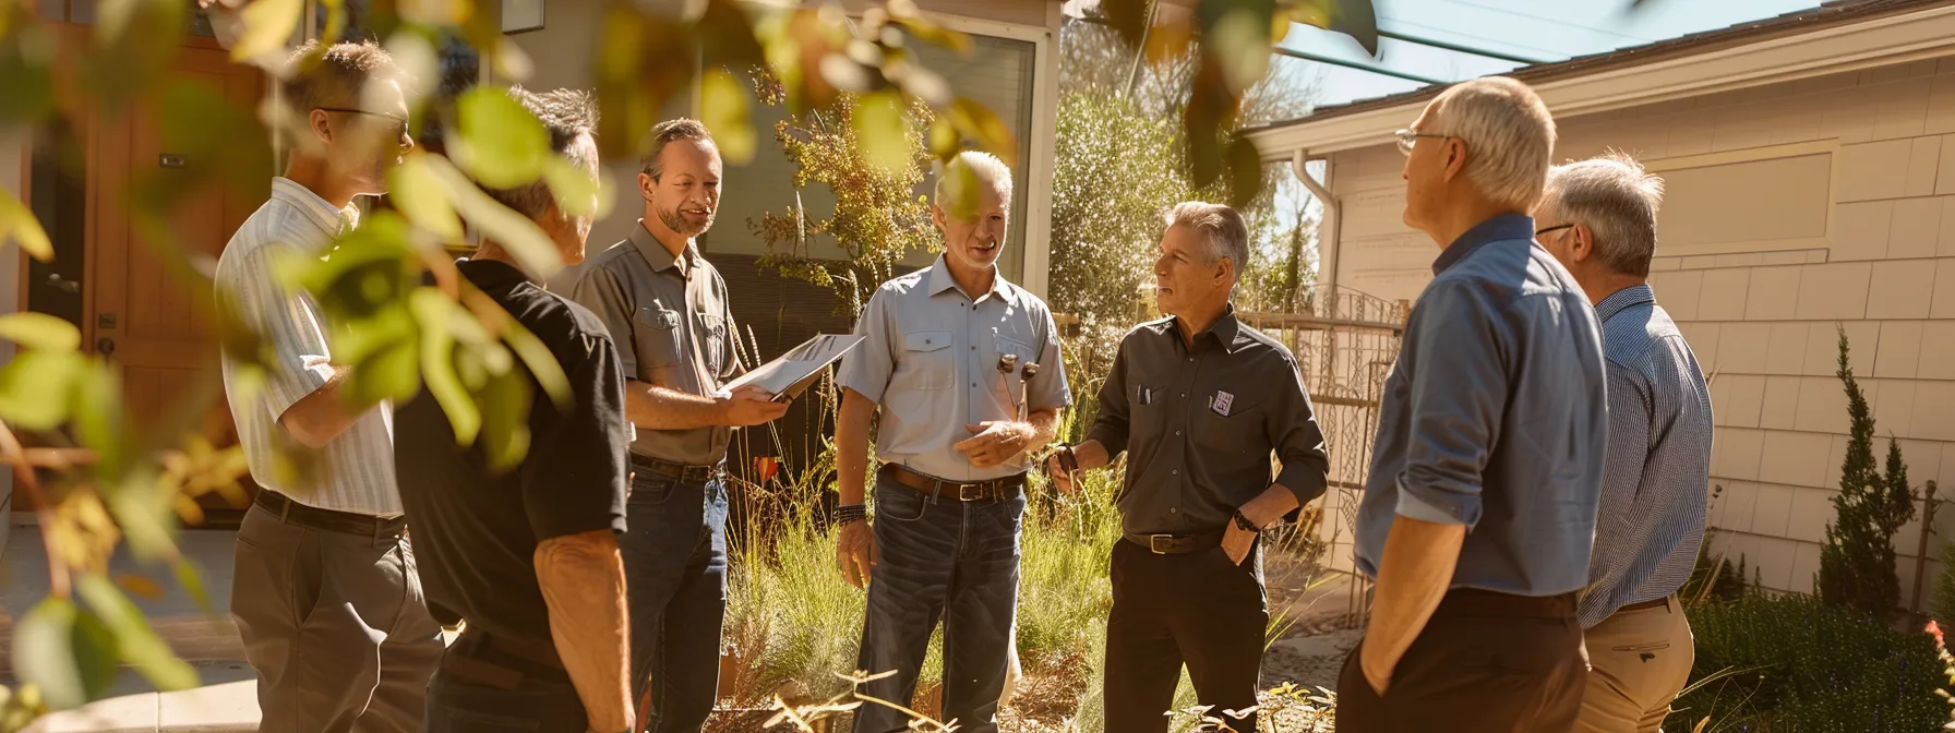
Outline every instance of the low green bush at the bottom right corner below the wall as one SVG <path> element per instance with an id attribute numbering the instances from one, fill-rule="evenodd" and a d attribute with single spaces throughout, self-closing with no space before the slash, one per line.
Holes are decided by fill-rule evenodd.
<path id="1" fill-rule="evenodd" d="M 1691 688 L 1675 717 L 1695 731 L 1922 733 L 1947 721 L 1933 639 L 1806 596 L 1750 594 L 1689 610 Z"/>

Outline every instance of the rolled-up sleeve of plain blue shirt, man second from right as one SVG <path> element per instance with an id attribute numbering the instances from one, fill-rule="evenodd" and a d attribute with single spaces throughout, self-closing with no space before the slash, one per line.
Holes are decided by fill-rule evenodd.
<path id="1" fill-rule="evenodd" d="M 1408 346 L 1437 369 L 1408 385 L 1410 446 L 1398 475 L 1398 516 L 1437 524 L 1480 522 L 1482 471 L 1507 405 L 1507 332 L 1470 283 L 1441 281 L 1419 297 Z"/>

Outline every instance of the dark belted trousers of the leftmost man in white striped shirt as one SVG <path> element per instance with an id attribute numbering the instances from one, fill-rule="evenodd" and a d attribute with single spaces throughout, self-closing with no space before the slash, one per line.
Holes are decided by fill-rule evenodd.
<path id="1" fill-rule="evenodd" d="M 231 616 L 258 670 L 258 731 L 422 729 L 442 627 L 399 528 L 325 532 L 252 506 L 235 563 Z"/>

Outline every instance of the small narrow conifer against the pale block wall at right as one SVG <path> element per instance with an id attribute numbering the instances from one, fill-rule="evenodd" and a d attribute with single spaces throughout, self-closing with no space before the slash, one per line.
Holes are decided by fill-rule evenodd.
<path id="1" fill-rule="evenodd" d="M 1894 532 L 1914 518 L 1908 495 L 1908 465 L 1900 444 L 1887 440 L 1887 473 L 1873 463 L 1873 414 L 1853 379 L 1846 328 L 1840 328 L 1840 381 L 1846 385 L 1851 440 L 1840 465 L 1840 493 L 1834 522 L 1820 547 L 1820 600 L 1871 616 L 1887 616 L 1900 606 L 1900 579 L 1894 575 Z"/>

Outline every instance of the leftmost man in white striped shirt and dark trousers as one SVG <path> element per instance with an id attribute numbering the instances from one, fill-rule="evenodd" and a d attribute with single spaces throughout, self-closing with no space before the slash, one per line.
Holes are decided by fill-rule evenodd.
<path id="1" fill-rule="evenodd" d="M 231 614 L 258 670 L 260 731 L 420 731 L 442 629 L 422 600 L 395 491 L 391 410 L 342 395 L 319 303 L 278 278 L 354 225 L 413 147 L 393 61 L 338 43 L 293 55 L 283 100 L 303 125 L 272 199 L 217 260 L 217 297 L 260 338 L 264 381 L 223 358 L 225 397 L 262 487 L 239 528 Z"/>

